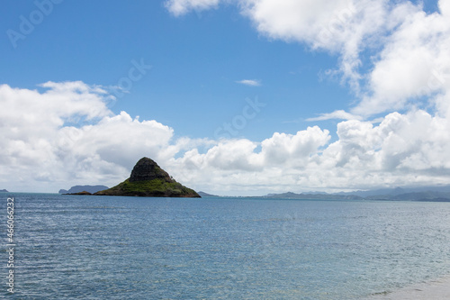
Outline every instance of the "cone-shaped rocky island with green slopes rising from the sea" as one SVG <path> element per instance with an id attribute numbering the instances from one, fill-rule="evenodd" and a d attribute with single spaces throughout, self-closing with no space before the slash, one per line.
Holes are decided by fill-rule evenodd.
<path id="1" fill-rule="evenodd" d="M 94 195 L 130 195 L 144 197 L 190 197 L 200 198 L 193 189 L 181 185 L 148 158 L 139 159 L 130 178 L 117 186 L 94 193 Z"/>

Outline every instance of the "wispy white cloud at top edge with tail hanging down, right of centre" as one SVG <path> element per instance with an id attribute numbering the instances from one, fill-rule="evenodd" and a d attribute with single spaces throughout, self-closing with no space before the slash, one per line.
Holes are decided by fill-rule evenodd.
<path id="1" fill-rule="evenodd" d="M 339 71 L 356 90 L 361 79 L 360 52 L 380 32 L 395 26 L 386 22 L 387 0 L 247 0 L 241 4 L 257 31 L 269 38 L 300 41 L 314 50 L 340 54 Z"/>

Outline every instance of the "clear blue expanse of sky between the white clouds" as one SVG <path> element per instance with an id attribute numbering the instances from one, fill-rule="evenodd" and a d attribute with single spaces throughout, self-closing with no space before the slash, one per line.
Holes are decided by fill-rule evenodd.
<path id="1" fill-rule="evenodd" d="M 18 16 L 35 9 L 31 1 L 8 2 L 3 27 L 18 30 Z M 336 56 L 260 36 L 234 5 L 176 18 L 160 1 L 66 1 L 16 49 L 4 40 L 2 52 L 8 59 L 0 81 L 28 88 L 76 80 L 114 86 L 131 60 L 143 59 L 151 70 L 112 111 L 155 119 L 193 138 L 212 138 L 240 114 L 247 97 L 258 97 L 267 109 L 239 136 L 259 140 L 273 132 L 295 133 L 311 125 L 306 118 L 352 101 L 339 80 L 322 76 L 336 68 Z M 244 79 L 261 86 L 237 83 Z"/>

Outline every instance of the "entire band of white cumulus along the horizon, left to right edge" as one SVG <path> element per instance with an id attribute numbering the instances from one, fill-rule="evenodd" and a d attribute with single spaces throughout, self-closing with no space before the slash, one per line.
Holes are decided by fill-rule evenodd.
<path id="1" fill-rule="evenodd" d="M 0 184 L 16 191 L 115 185 L 141 157 L 178 181 L 221 195 L 446 184 L 448 115 L 392 113 L 381 123 L 338 123 L 338 140 L 318 126 L 264 141 L 175 139 L 154 120 L 112 114 L 109 95 L 82 82 L 43 90 L 0 86 Z M 203 150 L 206 149 L 206 150 Z M 2 188 L 4 188 L 2 187 Z"/>

